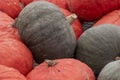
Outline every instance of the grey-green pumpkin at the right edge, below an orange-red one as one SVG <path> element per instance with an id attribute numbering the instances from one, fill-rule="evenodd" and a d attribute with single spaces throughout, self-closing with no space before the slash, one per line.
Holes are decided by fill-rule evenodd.
<path id="1" fill-rule="evenodd" d="M 78 39 L 75 58 L 92 68 L 97 76 L 120 52 L 120 27 L 110 24 L 86 30 Z"/>

